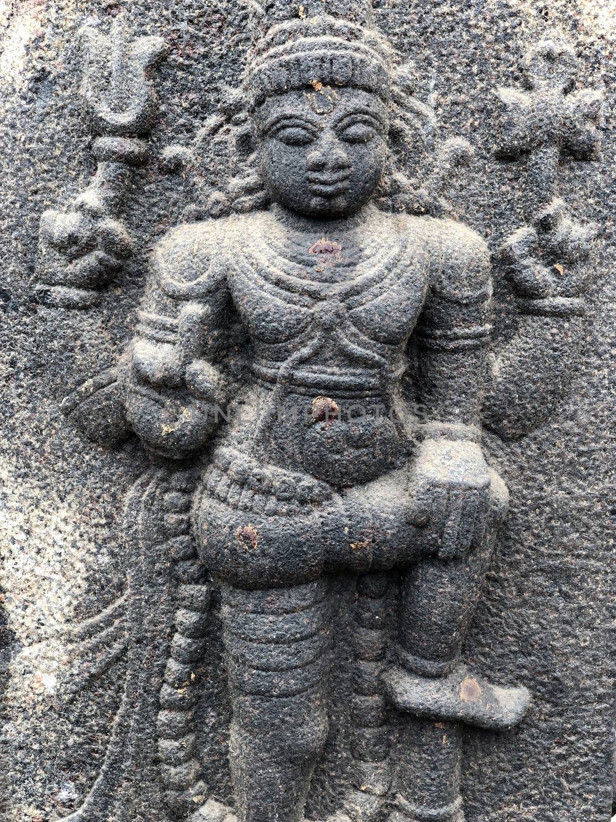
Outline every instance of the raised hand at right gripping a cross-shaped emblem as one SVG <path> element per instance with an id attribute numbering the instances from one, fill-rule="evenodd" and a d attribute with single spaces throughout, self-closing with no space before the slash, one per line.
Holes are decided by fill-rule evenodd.
<path id="1" fill-rule="evenodd" d="M 499 90 L 499 155 L 527 157 L 529 225 L 508 238 L 502 254 L 527 311 L 572 314 L 583 311 L 581 300 L 572 302 L 584 288 L 577 264 L 588 259 L 597 229 L 569 216 L 559 197 L 559 159 L 563 150 L 575 159 L 597 159 L 603 99 L 597 91 L 572 92 L 577 58 L 567 44 L 540 42 L 526 54 L 524 68 L 528 92 Z"/>

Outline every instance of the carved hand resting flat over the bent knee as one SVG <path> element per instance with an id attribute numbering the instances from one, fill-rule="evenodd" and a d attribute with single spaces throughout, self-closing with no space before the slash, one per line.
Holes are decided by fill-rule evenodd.
<path id="1" fill-rule="evenodd" d="M 483 537 L 490 473 L 475 442 L 425 439 L 412 474 L 418 522 L 438 534 L 437 556 L 462 556 Z"/>

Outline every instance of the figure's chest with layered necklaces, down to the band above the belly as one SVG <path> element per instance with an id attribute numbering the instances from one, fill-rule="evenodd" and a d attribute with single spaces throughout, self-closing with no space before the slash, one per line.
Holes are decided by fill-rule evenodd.
<path id="1" fill-rule="evenodd" d="M 428 287 L 430 258 L 416 225 L 375 211 L 320 242 L 315 232 L 281 232 L 265 213 L 242 233 L 229 285 L 255 345 L 255 376 L 283 375 L 308 395 L 388 391 Z"/>

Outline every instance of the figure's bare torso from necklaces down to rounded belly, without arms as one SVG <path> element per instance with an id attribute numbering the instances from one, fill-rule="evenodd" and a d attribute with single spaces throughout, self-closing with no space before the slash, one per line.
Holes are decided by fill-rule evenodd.
<path id="1" fill-rule="evenodd" d="M 266 213 L 246 221 L 229 250 L 229 288 L 251 336 L 260 402 L 249 447 L 334 484 L 381 473 L 402 445 L 387 415 L 428 288 L 430 257 L 416 230 L 375 211 L 367 225 L 322 238 L 281 231 Z M 328 412 L 340 409 L 341 419 L 311 419 L 318 398 L 331 399 Z M 344 409 L 352 406 L 354 420 Z M 294 430 L 274 438 L 273 426 Z"/>

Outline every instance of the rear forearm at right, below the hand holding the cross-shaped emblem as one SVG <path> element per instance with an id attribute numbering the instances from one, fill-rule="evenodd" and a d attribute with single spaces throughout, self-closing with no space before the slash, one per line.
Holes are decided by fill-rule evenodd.
<path id="1" fill-rule="evenodd" d="M 534 303 L 534 304 L 533 304 Z M 582 345 L 583 303 L 527 300 L 517 334 L 490 358 L 484 423 L 508 439 L 544 422 L 563 394 Z"/>

